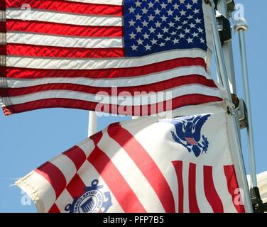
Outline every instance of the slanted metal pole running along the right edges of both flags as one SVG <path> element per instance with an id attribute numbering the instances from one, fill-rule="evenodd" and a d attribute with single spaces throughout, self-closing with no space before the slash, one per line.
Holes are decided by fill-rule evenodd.
<path id="1" fill-rule="evenodd" d="M 216 54 L 219 60 L 219 71 L 222 75 L 222 79 L 223 79 L 223 83 L 224 83 L 224 89 L 226 89 L 227 91 L 227 99 L 229 101 L 231 101 L 231 91 L 229 88 L 229 83 L 228 83 L 228 76 L 227 76 L 227 68 L 225 65 L 225 61 L 224 61 L 224 55 L 222 52 L 222 45 L 221 45 L 221 41 L 219 38 L 219 31 L 218 31 L 218 27 L 217 27 L 217 21 L 216 21 L 216 16 L 215 16 L 215 4 L 213 0 L 209 0 L 210 4 L 211 4 L 211 11 L 212 11 L 212 31 L 213 31 L 213 35 L 214 35 L 214 45 L 216 48 Z M 236 115 L 234 113 L 234 109 L 232 109 L 232 116 L 231 116 L 231 120 L 233 122 L 233 124 L 231 124 L 232 130 L 234 131 L 234 144 L 236 145 L 236 155 L 238 157 L 238 162 L 239 162 L 239 167 L 241 168 L 241 170 L 239 171 L 240 176 L 241 176 L 241 181 L 242 181 L 242 185 L 246 188 L 244 188 L 244 205 L 247 209 L 247 211 L 249 211 L 250 213 L 253 212 L 252 209 L 252 204 L 251 204 L 251 196 L 249 194 L 249 185 L 246 179 L 246 170 L 245 170 L 245 166 L 244 166 L 244 159 L 243 159 L 243 155 L 242 155 L 242 151 L 241 151 L 241 143 L 239 140 L 239 131 L 237 128 L 237 122 L 236 122 Z"/>

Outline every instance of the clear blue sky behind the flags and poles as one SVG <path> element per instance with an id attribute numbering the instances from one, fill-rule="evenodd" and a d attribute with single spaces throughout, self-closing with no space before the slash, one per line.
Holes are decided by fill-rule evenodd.
<path id="1" fill-rule="evenodd" d="M 267 151 L 263 148 L 267 122 L 266 106 L 266 50 L 267 31 L 262 26 L 266 17 L 267 1 L 261 7 L 251 0 L 240 0 L 244 4 L 249 22 L 246 46 L 249 62 L 249 84 L 254 121 L 257 172 L 267 170 Z M 241 68 L 238 35 L 234 35 L 234 60 L 238 94 L 242 96 Z M 98 130 L 118 117 L 98 119 Z M 36 212 L 31 205 L 21 204 L 25 199 L 18 187 L 11 187 L 16 179 L 23 177 L 50 158 L 67 150 L 87 137 L 88 111 L 74 109 L 45 109 L 4 117 L 0 114 L 0 212 Z M 248 169 L 246 132 L 242 131 L 244 159 Z M 249 172 L 249 171 L 248 171 Z"/>

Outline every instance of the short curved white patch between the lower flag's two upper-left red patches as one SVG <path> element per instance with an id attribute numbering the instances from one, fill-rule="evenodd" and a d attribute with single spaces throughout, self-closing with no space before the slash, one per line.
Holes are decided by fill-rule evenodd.
<path id="1" fill-rule="evenodd" d="M 58 169 L 62 172 L 62 175 L 64 175 L 67 184 L 75 176 L 77 171 L 75 164 L 66 155 L 60 155 L 56 157 L 54 160 L 50 160 L 50 162 L 56 167 L 58 167 Z"/>

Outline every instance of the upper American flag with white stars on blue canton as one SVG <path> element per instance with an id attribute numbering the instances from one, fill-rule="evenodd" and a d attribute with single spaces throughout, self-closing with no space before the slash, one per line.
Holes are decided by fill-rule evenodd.
<path id="1" fill-rule="evenodd" d="M 138 116 L 222 101 L 209 13 L 202 0 L 1 1 L 0 104 Z"/>

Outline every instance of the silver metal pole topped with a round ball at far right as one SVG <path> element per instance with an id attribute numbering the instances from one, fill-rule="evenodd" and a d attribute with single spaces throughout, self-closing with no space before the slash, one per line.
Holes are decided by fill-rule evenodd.
<path id="1" fill-rule="evenodd" d="M 246 60 L 246 43 L 245 43 L 245 32 L 247 31 L 248 27 L 249 26 L 244 18 L 240 18 L 239 21 L 236 21 L 236 26 L 234 26 L 235 30 L 239 33 L 244 99 L 246 103 L 247 119 L 248 119 L 248 126 L 246 127 L 246 129 L 247 129 L 248 145 L 249 145 L 249 168 L 251 176 L 251 186 L 257 187 L 254 135 L 253 135 L 253 124 L 251 118 L 251 103 L 250 103 L 250 93 L 249 93 L 249 73 Z"/>

